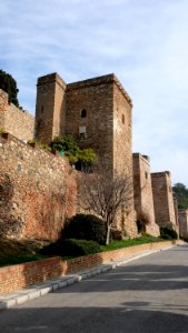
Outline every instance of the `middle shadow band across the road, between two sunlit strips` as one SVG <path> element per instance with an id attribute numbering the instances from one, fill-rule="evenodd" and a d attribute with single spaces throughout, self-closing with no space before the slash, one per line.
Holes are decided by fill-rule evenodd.
<path id="1" fill-rule="evenodd" d="M 111 281 L 112 283 L 110 283 Z M 188 266 L 151 264 L 121 266 L 88 279 L 81 290 L 82 292 L 96 292 L 98 284 L 102 292 L 188 290 Z M 71 293 L 77 293 L 77 287 L 71 287 Z M 69 292 L 69 289 L 58 291 L 58 293 Z"/>

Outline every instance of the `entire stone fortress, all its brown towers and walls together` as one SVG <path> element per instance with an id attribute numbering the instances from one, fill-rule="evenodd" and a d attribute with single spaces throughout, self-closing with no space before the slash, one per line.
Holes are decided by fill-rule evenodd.
<path id="1" fill-rule="evenodd" d="M 135 209 L 132 200 L 121 225 L 129 235 L 137 235 L 135 210 L 149 216 L 146 232 L 150 234 L 158 235 L 158 225 L 166 223 L 178 230 L 170 174 L 150 174 L 146 155 L 133 154 L 132 161 L 131 112 L 132 101 L 115 74 L 69 84 L 57 73 L 39 78 L 36 119 L 9 105 L 0 90 L 0 128 L 12 134 L 0 137 L 0 223 L 6 233 L 55 240 L 66 216 L 80 211 L 77 172 L 65 158 L 24 143 L 33 135 L 48 143 L 65 134 L 72 134 L 82 148 L 93 148 L 110 176 L 125 172 L 133 180 Z"/>

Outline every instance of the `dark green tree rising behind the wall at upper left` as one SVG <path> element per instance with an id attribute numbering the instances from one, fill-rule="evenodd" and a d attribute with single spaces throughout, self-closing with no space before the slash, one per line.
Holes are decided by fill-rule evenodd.
<path id="1" fill-rule="evenodd" d="M 17 99 L 17 94 L 19 92 L 17 88 L 17 81 L 2 70 L 0 70 L 0 89 L 8 93 L 9 103 L 13 103 L 19 108 L 19 101 Z"/>

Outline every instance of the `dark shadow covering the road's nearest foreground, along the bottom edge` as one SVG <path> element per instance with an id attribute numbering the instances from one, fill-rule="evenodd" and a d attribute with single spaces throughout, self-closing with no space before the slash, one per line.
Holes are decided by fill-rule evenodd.
<path id="1" fill-rule="evenodd" d="M 3 333 L 182 333 L 188 316 L 150 310 L 149 303 L 125 303 L 119 307 L 52 307 L 9 310 L 0 315 Z M 176 309 L 179 311 L 179 309 Z M 184 309 L 185 310 L 185 309 Z M 187 309 L 186 309 L 187 310 Z"/>

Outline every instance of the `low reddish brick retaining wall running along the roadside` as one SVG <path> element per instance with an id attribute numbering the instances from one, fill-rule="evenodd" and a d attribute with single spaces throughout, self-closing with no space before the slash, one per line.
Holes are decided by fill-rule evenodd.
<path id="1" fill-rule="evenodd" d="M 43 282 L 61 275 L 76 273 L 78 271 L 101 265 L 107 262 L 130 258 L 136 253 L 149 250 L 182 244 L 182 241 L 157 242 L 135 245 L 113 251 L 80 256 L 72 260 L 50 258 L 41 261 L 27 262 L 0 269 L 0 294 L 7 294 L 23 289 L 38 282 Z"/>

